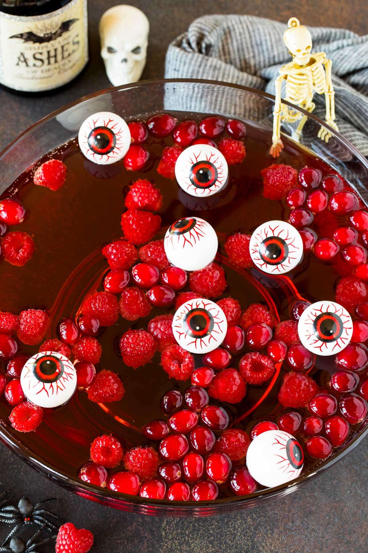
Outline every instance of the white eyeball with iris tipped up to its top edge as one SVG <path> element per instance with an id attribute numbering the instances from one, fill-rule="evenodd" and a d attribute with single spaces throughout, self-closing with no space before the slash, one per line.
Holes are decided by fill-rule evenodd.
<path id="1" fill-rule="evenodd" d="M 172 265 L 185 271 L 196 271 L 215 259 L 217 234 L 207 221 L 199 217 L 184 217 L 167 229 L 164 248 Z"/>

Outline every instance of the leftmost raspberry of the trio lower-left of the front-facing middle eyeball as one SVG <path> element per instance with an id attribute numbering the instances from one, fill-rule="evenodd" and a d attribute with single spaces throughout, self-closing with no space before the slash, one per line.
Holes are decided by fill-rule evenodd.
<path id="1" fill-rule="evenodd" d="M 120 340 L 121 357 L 128 367 L 149 363 L 156 352 L 156 342 L 146 330 L 128 330 Z"/>

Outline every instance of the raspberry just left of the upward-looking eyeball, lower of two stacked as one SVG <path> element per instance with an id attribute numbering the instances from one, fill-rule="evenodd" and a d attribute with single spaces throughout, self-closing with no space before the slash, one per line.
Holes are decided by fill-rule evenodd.
<path id="1" fill-rule="evenodd" d="M 121 228 L 126 238 L 133 244 L 144 244 L 152 240 L 159 227 L 161 217 L 150 211 L 131 209 L 121 216 Z"/>

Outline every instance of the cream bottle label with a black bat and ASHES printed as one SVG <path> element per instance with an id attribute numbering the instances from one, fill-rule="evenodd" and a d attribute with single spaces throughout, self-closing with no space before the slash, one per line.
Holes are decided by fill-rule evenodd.
<path id="1" fill-rule="evenodd" d="M 87 61 L 87 0 L 30 17 L 0 12 L 3 85 L 25 92 L 51 90 L 74 79 Z"/>

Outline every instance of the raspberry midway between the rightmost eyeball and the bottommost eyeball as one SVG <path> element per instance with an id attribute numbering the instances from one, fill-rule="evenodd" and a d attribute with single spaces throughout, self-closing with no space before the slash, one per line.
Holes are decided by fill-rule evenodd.
<path id="1" fill-rule="evenodd" d="M 284 407 L 305 407 L 317 392 L 318 385 L 312 378 L 291 371 L 284 375 L 278 398 Z"/>

